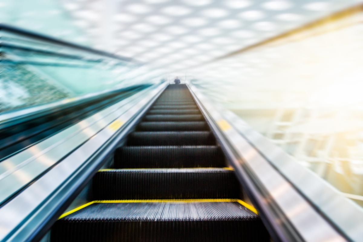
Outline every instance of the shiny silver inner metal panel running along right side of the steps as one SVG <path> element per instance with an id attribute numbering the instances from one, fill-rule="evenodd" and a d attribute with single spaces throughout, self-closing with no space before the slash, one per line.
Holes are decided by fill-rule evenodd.
<path id="1" fill-rule="evenodd" d="M 233 146 L 237 154 L 243 158 L 250 171 L 258 177 L 261 184 L 269 192 L 270 197 L 279 206 L 304 241 L 346 241 L 342 235 L 317 212 L 314 206 L 303 197 L 292 184 L 267 160 L 245 137 L 234 128 L 238 123 L 230 123 L 200 91 L 190 86 L 201 105 L 208 112 L 225 138 Z M 243 122 L 243 121 L 242 121 Z M 239 123 L 241 124 L 241 123 Z M 271 150 L 270 150 L 271 152 Z M 282 152 L 282 151 L 281 151 Z M 241 164 L 240 164 L 241 165 Z M 315 182 L 323 182 L 315 181 Z M 344 198 L 345 199 L 345 198 Z M 335 207 L 335 209 L 340 209 Z M 348 232 L 348 231 L 344 231 Z M 354 234 L 350 234 L 350 236 Z M 356 241 L 356 237 L 353 237 Z"/>

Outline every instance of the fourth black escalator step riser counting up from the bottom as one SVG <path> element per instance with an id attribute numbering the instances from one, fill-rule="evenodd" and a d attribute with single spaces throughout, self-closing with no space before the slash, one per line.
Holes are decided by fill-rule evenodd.
<path id="1" fill-rule="evenodd" d="M 136 131 L 127 145 L 215 145 L 210 131 Z"/>

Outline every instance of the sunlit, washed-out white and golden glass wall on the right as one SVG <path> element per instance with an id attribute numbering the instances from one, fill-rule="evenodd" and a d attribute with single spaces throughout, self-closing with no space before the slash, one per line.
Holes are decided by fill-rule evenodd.
<path id="1" fill-rule="evenodd" d="M 362 7 L 189 72 L 299 163 L 363 205 Z"/>

